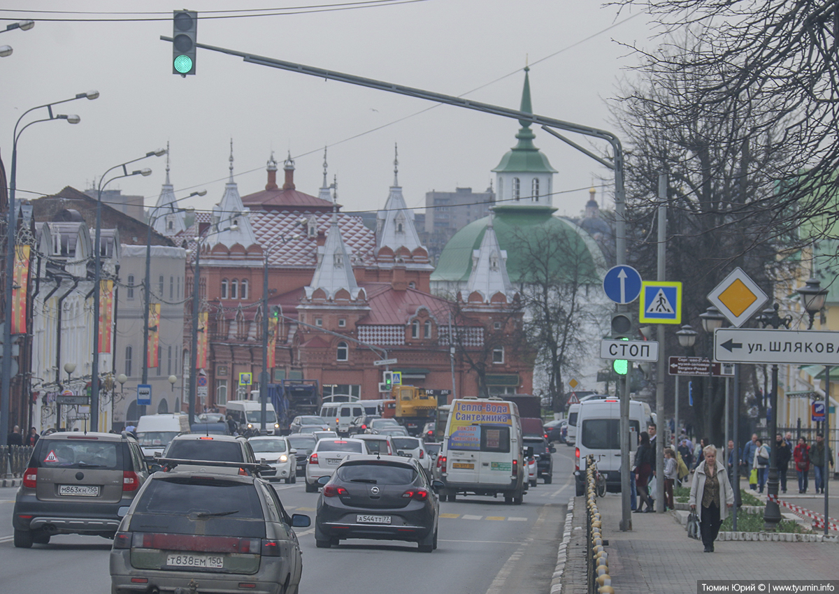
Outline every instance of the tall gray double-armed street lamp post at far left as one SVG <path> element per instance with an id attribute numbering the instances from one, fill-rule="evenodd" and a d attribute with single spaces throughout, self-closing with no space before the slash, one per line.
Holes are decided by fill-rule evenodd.
<path id="1" fill-rule="evenodd" d="M 31 29 L 31 27 L 29 28 Z M 64 99 L 62 101 L 57 101 L 53 103 L 45 103 L 44 105 L 39 105 L 37 107 L 32 107 L 20 117 L 18 117 L 18 121 L 14 124 L 14 131 L 12 135 L 12 171 L 9 175 L 9 183 L 8 183 L 8 216 L 6 217 L 8 220 L 8 227 L 6 228 L 6 286 L 4 287 L 4 303 L 5 303 L 5 315 L 6 315 L 6 324 L 3 325 L 3 369 L 2 373 L 2 381 L 0 381 L 0 443 L 6 443 L 6 437 L 8 433 L 8 409 L 9 409 L 9 399 L 10 399 L 10 392 L 12 388 L 12 326 L 11 326 L 11 313 L 12 313 L 12 298 L 13 298 L 13 278 L 14 278 L 14 252 L 15 252 L 15 235 L 18 231 L 18 224 L 17 224 L 17 215 L 16 215 L 16 207 L 14 201 L 14 194 L 15 189 L 18 185 L 18 140 L 20 139 L 20 135 L 23 134 L 23 130 L 29 128 L 34 123 L 38 122 L 49 122 L 50 120 L 66 120 L 68 123 L 79 123 L 81 118 L 76 115 L 63 115 L 63 114 L 54 114 L 53 113 L 53 106 L 59 105 L 60 103 L 66 103 L 70 101 L 76 101 L 76 99 L 96 99 L 99 96 L 99 91 L 87 91 L 86 93 L 78 93 L 76 96 L 70 97 L 70 99 Z M 23 117 L 29 112 L 34 112 L 36 109 L 42 109 L 46 107 L 47 112 L 49 113 L 50 117 L 44 117 L 43 119 L 34 120 L 29 122 L 23 128 L 20 129 L 18 132 L 18 126 L 20 122 L 23 120 Z"/>

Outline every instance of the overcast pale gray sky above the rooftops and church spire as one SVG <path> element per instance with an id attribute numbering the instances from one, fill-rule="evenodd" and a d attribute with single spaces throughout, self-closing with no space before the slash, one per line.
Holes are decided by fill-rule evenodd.
<path id="1" fill-rule="evenodd" d="M 0 59 L 0 149 L 7 170 L 21 113 L 77 92 L 101 93 L 94 102 L 57 108 L 79 114 L 80 124 L 44 122 L 23 133 L 18 198 L 52 194 L 65 185 L 85 190 L 113 165 L 168 141 L 176 195 L 206 189 L 206 196 L 185 204 L 209 209 L 221 199 L 232 138 L 242 195 L 265 185 L 272 149 L 280 167 L 291 152 L 298 190 L 317 195 L 323 147 L 329 145 L 329 179 L 337 175 L 344 211 L 383 206 L 393 182 L 393 143 L 399 143 L 399 183 L 408 205 L 418 207 L 429 190 L 484 190 L 494 183 L 490 170 L 515 143 L 519 123 L 507 118 L 434 107 L 207 50 L 198 52 L 196 76 L 175 76 L 171 44 L 159 40 L 172 34 L 173 8 L 206 17 L 231 8 L 266 8 L 282 14 L 201 19 L 198 40 L 449 95 L 467 93 L 507 107 L 519 107 L 521 69 L 529 59 L 534 112 L 596 128 L 610 128 L 604 100 L 637 63 L 617 42 L 653 45 L 647 15 L 618 15 L 593 0 L 397 0 L 376 8 L 304 8 L 336 2 L 13 0 L 0 9 L 0 29 L 20 18 L 36 25 L 0 35 L 0 44 L 14 50 Z M 69 9 L 76 12 L 56 12 Z M 122 20 L 128 18 L 151 20 Z M 45 110 L 36 114 L 46 117 Z M 560 214 L 578 215 L 591 180 L 607 176 L 611 182 L 611 174 L 547 133 L 536 135 L 536 145 L 559 170 L 555 190 L 562 193 L 555 195 L 555 206 Z M 138 164 L 151 167 L 153 175 L 108 187 L 144 195 L 146 205 L 153 205 L 164 182 L 164 159 Z M 611 186 L 607 193 L 611 207 Z"/>

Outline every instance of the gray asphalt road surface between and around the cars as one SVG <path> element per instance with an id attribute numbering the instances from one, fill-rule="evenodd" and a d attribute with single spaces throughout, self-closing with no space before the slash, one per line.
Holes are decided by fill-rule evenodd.
<path id="1" fill-rule="evenodd" d="M 550 591 L 566 504 L 574 495 L 572 456 L 571 448 L 557 444 L 553 484 L 540 480 L 522 505 L 472 497 L 440 503 L 439 545 L 431 554 L 418 552 L 414 544 L 377 540 L 348 540 L 331 549 L 316 549 L 314 529 L 298 529 L 304 561 L 300 592 L 544 594 Z M 318 494 L 306 493 L 301 482 L 278 487 L 289 512 L 307 513 L 314 520 Z M 50 545 L 14 548 L 15 492 L 0 488 L 3 591 L 110 591 L 107 539 L 61 535 L 53 537 Z"/>

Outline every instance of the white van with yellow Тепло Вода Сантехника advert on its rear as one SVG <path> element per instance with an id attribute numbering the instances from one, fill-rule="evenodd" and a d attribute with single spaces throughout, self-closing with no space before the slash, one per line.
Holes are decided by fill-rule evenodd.
<path id="1" fill-rule="evenodd" d="M 455 399 L 438 457 L 440 500 L 457 493 L 522 503 L 525 473 L 519 408 L 502 399 Z"/>

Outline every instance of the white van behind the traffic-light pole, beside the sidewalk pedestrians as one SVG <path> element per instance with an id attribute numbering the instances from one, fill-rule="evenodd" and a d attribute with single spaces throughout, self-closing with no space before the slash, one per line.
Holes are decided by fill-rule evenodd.
<path id="1" fill-rule="evenodd" d="M 594 456 L 597 470 L 606 478 L 609 491 L 621 490 L 621 403 L 615 398 L 586 400 L 577 404 L 577 439 L 574 451 L 576 494 L 581 496 L 586 488 L 586 456 Z M 649 405 L 637 400 L 629 401 L 629 430 L 633 435 L 646 431 L 651 420 Z M 637 439 L 637 437 L 636 437 Z M 633 444 L 635 451 L 637 444 Z M 632 464 L 630 463 L 630 466 Z"/>

